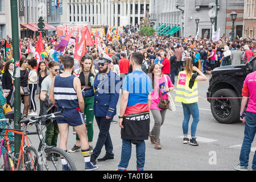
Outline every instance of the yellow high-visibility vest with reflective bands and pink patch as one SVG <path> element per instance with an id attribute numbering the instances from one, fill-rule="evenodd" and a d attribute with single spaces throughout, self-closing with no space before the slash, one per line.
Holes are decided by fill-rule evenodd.
<path id="1" fill-rule="evenodd" d="M 187 76 L 185 71 L 179 72 L 176 88 L 176 102 L 183 102 L 184 104 L 192 104 L 198 102 L 198 88 L 197 81 L 192 88 L 189 88 L 189 81 L 191 77 Z"/>

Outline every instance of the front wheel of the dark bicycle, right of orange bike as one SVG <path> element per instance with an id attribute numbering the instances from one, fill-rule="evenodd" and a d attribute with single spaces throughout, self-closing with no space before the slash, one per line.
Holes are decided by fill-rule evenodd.
<path id="1" fill-rule="evenodd" d="M 73 162 L 71 156 L 64 150 L 58 147 L 47 147 L 44 152 L 46 152 L 46 164 L 44 165 L 44 170 L 48 171 L 61 171 L 63 169 L 63 164 L 61 160 L 67 162 L 69 171 L 77 171 L 76 165 Z M 63 156 L 63 159 L 60 159 Z"/>

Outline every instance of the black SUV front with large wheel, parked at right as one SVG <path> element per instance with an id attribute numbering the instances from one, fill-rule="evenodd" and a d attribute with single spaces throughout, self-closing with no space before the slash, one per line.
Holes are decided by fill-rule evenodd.
<path id="1" fill-rule="evenodd" d="M 214 98 L 207 100 L 210 102 L 213 117 L 218 122 L 229 124 L 239 121 L 242 99 L 221 97 L 242 97 L 243 81 L 254 71 L 256 71 L 256 57 L 246 64 L 219 67 L 210 73 L 207 97 Z"/>

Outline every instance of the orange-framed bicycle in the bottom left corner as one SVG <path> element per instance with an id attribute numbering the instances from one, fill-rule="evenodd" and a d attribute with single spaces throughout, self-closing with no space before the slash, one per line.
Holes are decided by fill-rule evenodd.
<path id="1" fill-rule="evenodd" d="M 12 121 L 7 118 L 0 119 L 0 122 L 6 122 L 6 127 L 0 127 L 0 133 L 5 130 L 5 134 L 0 134 L 1 136 L 4 136 L 4 138 L 1 139 L 0 154 L 2 152 L 2 147 L 6 150 L 6 159 L 4 160 L 3 165 L 6 164 L 8 158 L 9 162 L 7 163 L 7 169 L 10 169 L 11 171 L 42 171 L 43 166 L 39 163 L 38 151 L 36 151 L 33 146 L 30 146 L 26 131 L 9 129 L 8 127 L 11 125 Z M 8 137 L 13 137 L 13 135 L 8 134 L 9 132 L 21 135 L 18 158 L 15 157 L 14 152 L 11 152 L 11 145 L 14 145 L 14 142 L 9 141 Z M 14 164 L 16 164 L 16 168 Z"/>

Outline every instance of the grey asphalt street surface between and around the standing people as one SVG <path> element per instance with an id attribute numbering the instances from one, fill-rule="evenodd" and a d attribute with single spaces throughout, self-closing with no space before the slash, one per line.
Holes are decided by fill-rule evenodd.
<path id="1" fill-rule="evenodd" d="M 209 75 L 207 75 L 209 78 Z M 176 78 L 177 80 L 177 78 Z M 199 96 L 206 97 L 209 81 L 199 82 Z M 176 83 L 175 83 L 176 86 Z M 172 93 L 174 98 L 175 92 Z M 117 109 L 119 111 L 119 98 Z M 38 101 L 37 101 L 38 102 Z M 38 108 L 39 108 L 39 102 Z M 176 111 L 167 111 L 166 119 L 161 127 L 160 143 L 162 150 L 155 150 L 154 144 L 150 140 L 146 140 L 146 164 L 144 169 L 151 171 L 160 170 L 233 170 L 239 163 L 240 149 L 243 140 L 244 125 L 242 123 L 234 123 L 232 125 L 224 125 L 218 123 L 212 116 L 210 111 L 210 104 L 206 99 L 199 100 L 200 108 L 200 122 L 197 126 L 197 142 L 199 146 L 191 146 L 183 144 L 183 109 L 180 103 L 176 104 Z M 115 115 L 115 120 L 118 116 Z M 192 121 L 192 120 L 191 120 Z M 190 125 L 189 124 L 189 135 Z M 153 117 L 151 115 L 151 129 L 154 125 Z M 31 126 L 29 130 L 34 130 Z M 114 160 L 109 162 L 98 162 L 98 170 L 113 171 L 117 168 L 121 158 L 121 134 L 118 124 L 112 124 L 110 127 L 110 135 L 114 146 Z M 94 120 L 94 141 L 95 146 L 98 136 L 97 123 Z M 37 136 L 36 136 L 37 137 Z M 38 146 L 38 139 L 31 137 L 32 144 Z M 72 127 L 69 130 L 68 150 L 75 144 L 75 135 L 72 134 Z M 256 142 L 252 144 L 249 170 L 251 170 L 251 161 L 253 159 Z M 105 155 L 105 148 L 102 149 L 100 158 Z M 84 169 L 84 162 L 81 151 L 71 154 L 75 160 L 77 169 Z M 136 170 L 136 152 L 133 145 L 131 160 L 127 170 Z"/>

